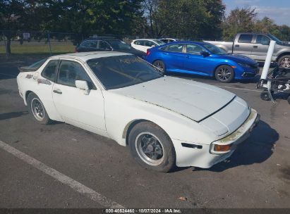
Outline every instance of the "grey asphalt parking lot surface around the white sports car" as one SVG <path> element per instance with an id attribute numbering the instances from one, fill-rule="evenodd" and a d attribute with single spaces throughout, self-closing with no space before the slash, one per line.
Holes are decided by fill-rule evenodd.
<path id="1" fill-rule="evenodd" d="M 110 139 L 59 122 L 38 125 L 16 83 L 17 67 L 28 63 L 0 63 L 0 142 L 17 149 L 0 146 L 0 208 L 100 208 L 102 200 L 126 208 L 290 208 L 290 105 L 262 101 L 255 81 L 181 76 L 234 92 L 261 121 L 228 160 L 162 174 L 141 168 Z"/>

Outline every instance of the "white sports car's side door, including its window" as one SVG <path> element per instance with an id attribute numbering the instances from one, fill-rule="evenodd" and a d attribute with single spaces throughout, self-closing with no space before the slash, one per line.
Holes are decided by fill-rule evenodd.
<path id="1" fill-rule="evenodd" d="M 85 80 L 90 93 L 75 87 L 75 80 Z M 78 61 L 61 60 L 56 83 L 53 87 L 53 100 L 63 120 L 71 125 L 104 135 L 104 99 Z"/>

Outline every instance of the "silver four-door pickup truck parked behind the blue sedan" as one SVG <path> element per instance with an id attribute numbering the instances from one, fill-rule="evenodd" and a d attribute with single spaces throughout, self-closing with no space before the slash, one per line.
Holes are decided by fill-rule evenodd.
<path id="1" fill-rule="evenodd" d="M 270 41 L 276 41 L 272 61 L 282 68 L 290 68 L 290 44 L 282 42 L 272 34 L 238 33 L 234 42 L 204 41 L 215 44 L 227 53 L 241 54 L 255 61 L 265 61 Z"/>

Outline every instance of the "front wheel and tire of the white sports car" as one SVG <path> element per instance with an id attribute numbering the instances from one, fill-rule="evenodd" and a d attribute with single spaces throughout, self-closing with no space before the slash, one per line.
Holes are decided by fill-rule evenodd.
<path id="1" fill-rule="evenodd" d="M 176 153 L 170 137 L 152 122 L 135 125 L 129 133 L 128 144 L 133 158 L 144 168 L 169 172 L 175 166 Z"/>

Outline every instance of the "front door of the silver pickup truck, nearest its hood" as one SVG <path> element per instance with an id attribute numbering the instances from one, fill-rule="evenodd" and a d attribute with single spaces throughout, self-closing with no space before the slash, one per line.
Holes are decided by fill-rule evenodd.
<path id="1" fill-rule="evenodd" d="M 270 42 L 269 37 L 257 34 L 253 44 L 252 58 L 257 61 L 265 61 Z"/>

